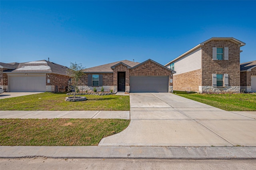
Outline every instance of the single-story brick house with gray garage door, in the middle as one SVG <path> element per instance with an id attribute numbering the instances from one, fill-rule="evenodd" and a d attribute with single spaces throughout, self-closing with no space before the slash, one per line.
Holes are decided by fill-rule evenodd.
<path id="1" fill-rule="evenodd" d="M 86 68 L 83 70 L 83 90 L 125 92 L 172 92 L 172 74 L 175 73 L 155 61 L 143 63 L 128 60 Z"/>

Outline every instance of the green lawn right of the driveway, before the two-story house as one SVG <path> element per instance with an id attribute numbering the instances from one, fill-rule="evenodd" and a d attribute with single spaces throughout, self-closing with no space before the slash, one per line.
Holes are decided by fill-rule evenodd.
<path id="1" fill-rule="evenodd" d="M 256 111 L 255 94 L 198 94 L 181 91 L 173 93 L 226 111 Z"/>

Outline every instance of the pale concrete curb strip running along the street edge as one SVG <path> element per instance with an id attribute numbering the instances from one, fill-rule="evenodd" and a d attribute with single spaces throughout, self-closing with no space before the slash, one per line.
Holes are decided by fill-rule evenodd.
<path id="1" fill-rule="evenodd" d="M 256 147 L 0 146 L 0 158 L 256 159 Z"/>

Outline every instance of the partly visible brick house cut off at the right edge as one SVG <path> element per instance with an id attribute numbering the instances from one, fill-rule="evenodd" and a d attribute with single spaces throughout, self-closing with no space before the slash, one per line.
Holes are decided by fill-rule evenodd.
<path id="1" fill-rule="evenodd" d="M 256 60 L 240 64 L 241 90 L 256 92 Z"/>

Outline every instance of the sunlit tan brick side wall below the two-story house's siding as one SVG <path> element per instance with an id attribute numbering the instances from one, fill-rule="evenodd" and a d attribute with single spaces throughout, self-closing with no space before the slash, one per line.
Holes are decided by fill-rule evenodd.
<path id="1" fill-rule="evenodd" d="M 173 75 L 173 90 L 199 92 L 202 86 L 202 69 Z"/>

